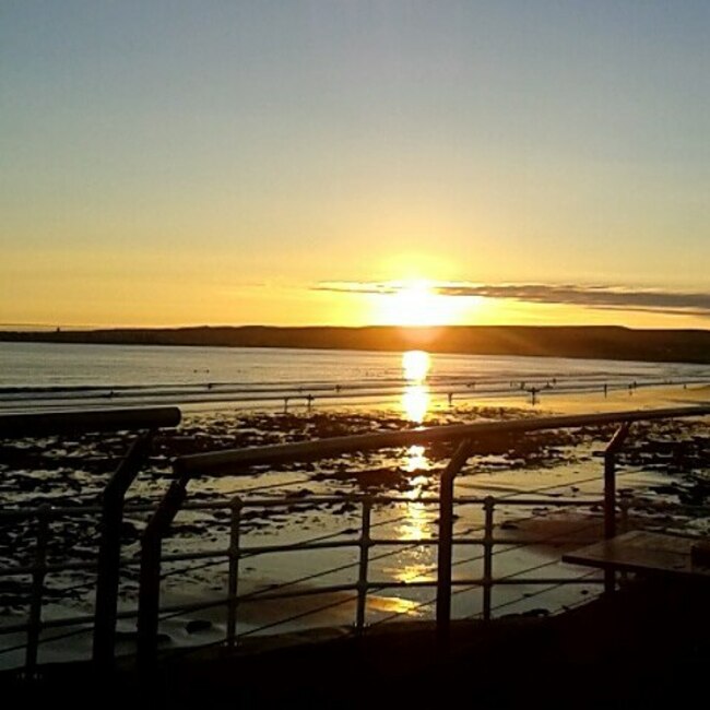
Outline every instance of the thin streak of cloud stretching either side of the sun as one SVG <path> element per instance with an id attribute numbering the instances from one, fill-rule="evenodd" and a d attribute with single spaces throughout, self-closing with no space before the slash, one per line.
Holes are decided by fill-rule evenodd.
<path id="1" fill-rule="evenodd" d="M 710 317 L 710 293 L 635 289 L 618 286 L 547 284 L 438 283 L 442 296 L 504 298 L 532 304 L 559 304 L 603 310 L 640 310 L 664 315 Z M 318 291 L 360 294 L 397 293 L 400 285 L 388 282 L 321 283 Z"/>

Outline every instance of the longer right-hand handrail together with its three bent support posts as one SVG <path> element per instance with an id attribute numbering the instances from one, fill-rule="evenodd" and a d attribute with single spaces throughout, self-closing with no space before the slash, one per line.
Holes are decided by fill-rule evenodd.
<path id="1" fill-rule="evenodd" d="M 439 483 L 439 536 L 436 543 L 437 561 L 437 611 L 436 620 L 442 639 L 449 634 L 451 620 L 451 561 L 453 546 L 453 482 L 457 474 L 470 458 L 476 440 L 494 434 L 524 435 L 531 431 L 549 429 L 601 427 L 616 425 L 619 427 L 605 453 L 605 483 L 607 490 L 604 499 L 605 519 L 615 516 L 615 492 L 611 483 L 614 478 L 614 457 L 634 422 L 706 416 L 710 406 L 675 407 L 653 411 L 630 411 L 575 416 L 540 417 L 533 419 L 514 419 L 495 423 L 475 423 L 421 428 L 406 431 L 387 431 L 346 437 L 333 437 L 317 441 L 304 441 L 269 447 L 234 449 L 213 453 L 180 457 L 174 462 L 175 480 L 161 501 L 155 514 L 149 522 L 142 537 L 141 580 L 138 617 L 138 660 L 139 665 L 150 673 L 157 659 L 157 629 L 159 618 L 161 560 L 162 543 L 175 516 L 185 504 L 190 481 L 202 475 L 239 475 L 245 469 L 255 465 L 276 464 L 295 461 L 312 461 L 323 458 L 340 457 L 345 453 L 372 451 L 403 446 L 449 441 L 458 448 L 449 464 L 443 470 Z M 489 513 L 492 516 L 493 508 Z M 363 519 L 367 526 L 367 518 Z M 607 534 L 613 534 L 612 523 L 607 523 Z M 369 547 L 371 541 L 363 539 L 363 548 Z M 487 544 L 492 544 L 488 541 Z M 233 555 L 236 555 L 233 551 Z M 365 564 L 365 563 L 363 563 Z M 489 569 L 487 570 L 489 576 Z M 611 587 L 612 580 L 607 580 Z M 360 585 L 363 582 L 360 581 Z"/>

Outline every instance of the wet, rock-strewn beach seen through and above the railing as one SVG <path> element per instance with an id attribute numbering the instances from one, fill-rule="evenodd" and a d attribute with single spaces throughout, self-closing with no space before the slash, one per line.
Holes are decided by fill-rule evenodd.
<path id="1" fill-rule="evenodd" d="M 171 461 L 176 457 L 402 428 L 675 407 L 707 403 L 709 397 L 707 386 L 678 384 L 606 393 L 543 393 L 534 404 L 522 401 L 517 406 L 511 406 L 509 398 L 500 401 L 486 398 L 481 405 L 458 404 L 455 400 L 449 404 L 445 398 L 439 398 L 421 421 L 412 421 L 404 401 L 398 407 L 379 409 L 330 407 L 316 403 L 294 405 L 287 412 L 188 406 L 176 429 L 156 435 L 149 465 L 128 494 L 122 556 L 126 560 L 138 560 L 142 531 L 150 511 L 173 480 Z M 533 543 L 524 552 L 516 545 L 501 546 L 496 555 L 497 575 L 524 576 L 525 570 L 540 567 L 552 577 L 568 575 L 569 570 L 559 564 L 561 552 L 601 536 L 599 500 L 603 462 L 600 454 L 613 434 L 614 427 L 606 426 L 596 430 L 565 429 L 523 437 L 493 437 L 477 442 L 457 478 L 455 495 L 462 499 L 496 497 L 499 499 L 497 535 L 501 540 L 525 535 Z M 618 474 L 619 493 L 626 496 L 629 505 L 629 524 L 689 531 L 696 535 L 708 533 L 708 513 L 703 508 L 710 495 L 707 434 L 705 419 L 634 425 L 628 446 L 619 457 Z M 127 437 L 122 435 L 3 442 L 1 486 L 7 509 L 50 504 L 79 511 L 99 505 L 106 481 L 126 449 Z M 338 535 L 352 537 L 360 524 L 362 496 L 380 499 L 371 521 L 378 536 L 400 541 L 435 536 L 438 509 L 428 500 L 438 496 L 440 472 L 452 452 L 451 445 L 441 442 L 200 477 L 191 482 L 188 495 L 188 502 L 198 509 L 188 509 L 178 516 L 171 535 L 165 541 L 164 553 L 180 555 L 226 548 L 229 520 L 224 505 L 235 496 L 252 505 L 245 509 L 241 520 L 241 541 L 247 546 L 293 545 Z M 531 496 L 535 505 L 516 505 L 516 498 Z M 557 504 L 563 498 L 571 505 L 560 508 Z M 287 505 L 272 505 L 277 499 Z M 269 505 L 263 505 L 264 500 Z M 212 504 L 216 507 L 210 508 Z M 454 534 L 465 536 L 468 531 L 480 530 L 482 525 L 481 506 L 463 505 L 457 510 Z M 96 509 L 85 516 L 57 520 L 52 523 L 52 532 L 48 543 L 52 563 L 91 560 L 97 543 Z M 560 539 L 566 543 L 555 542 Z M 3 528 L 0 545 L 3 564 L 29 564 L 36 546 L 32 520 Z M 480 565 L 480 558 L 471 556 L 470 551 L 458 553 L 454 580 L 457 576 L 463 579 L 475 576 Z M 239 631 L 259 636 L 293 634 L 308 627 L 347 628 L 356 613 L 352 594 L 324 592 L 313 602 L 315 597 L 303 592 L 313 584 L 324 583 L 330 588 L 344 583 L 353 579 L 356 567 L 356 548 L 313 553 L 298 559 L 293 555 L 264 555 L 245 560 L 240 570 L 240 592 L 258 594 L 285 584 L 297 593 L 291 599 L 242 604 Z M 323 568 L 336 571 L 324 582 L 323 579 L 308 581 Z M 163 583 L 165 604 L 199 605 L 200 601 L 220 599 L 226 589 L 226 560 L 212 565 L 167 564 Z M 384 585 L 369 595 L 368 624 L 378 626 L 402 618 L 431 618 L 431 591 L 416 585 L 402 588 L 401 584 L 425 582 L 433 579 L 435 572 L 436 549 L 431 546 L 401 546 L 381 559 L 375 558 L 370 563 L 370 575 L 383 582 L 390 580 L 392 587 Z M 125 566 L 120 604 L 126 611 L 135 605 L 137 575 L 135 561 Z M 91 581 L 88 587 L 86 584 L 86 575 L 82 571 L 51 575 L 46 590 L 45 616 L 91 615 Z M 5 622 L 24 618 L 26 589 L 22 580 L 10 578 L 3 582 L 0 605 Z M 496 592 L 495 608 L 498 615 L 554 614 L 593 597 L 599 591 L 593 580 L 589 584 L 560 587 L 544 596 L 537 587 L 504 587 Z M 480 604 L 481 591 L 464 589 L 453 599 L 453 614 L 455 617 L 475 615 Z M 217 606 L 176 615 L 165 619 L 161 628 L 165 642 L 176 649 L 214 642 L 225 632 L 224 610 Z M 196 632 L 196 628 L 200 630 Z M 130 652 L 134 642 L 131 629 L 130 619 L 119 623 L 120 638 L 125 639 L 119 652 L 120 649 Z M 5 643 L 9 640 L 12 637 L 3 638 Z M 78 638 L 71 648 L 79 656 L 85 655 L 88 641 L 86 636 Z M 57 661 L 67 658 L 68 647 L 66 642 L 50 642 L 43 647 L 42 654 L 47 661 Z M 21 652 L 7 653 L 4 662 L 12 664 L 21 658 Z"/>

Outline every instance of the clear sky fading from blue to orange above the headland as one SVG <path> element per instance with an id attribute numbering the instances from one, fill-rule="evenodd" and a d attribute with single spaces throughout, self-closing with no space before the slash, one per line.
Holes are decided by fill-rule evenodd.
<path id="1" fill-rule="evenodd" d="M 708 32 L 693 0 L 11 3 L 0 328 L 707 328 Z"/>

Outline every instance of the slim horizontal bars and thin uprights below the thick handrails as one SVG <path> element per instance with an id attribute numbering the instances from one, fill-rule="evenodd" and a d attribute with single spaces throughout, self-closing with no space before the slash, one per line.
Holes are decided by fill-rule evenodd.
<path id="1" fill-rule="evenodd" d="M 229 544 L 226 547 L 217 547 L 213 549 L 202 549 L 199 552 L 184 552 L 184 553 L 174 553 L 164 555 L 162 557 L 162 572 L 159 575 L 161 582 L 164 582 L 166 579 L 177 573 L 191 573 L 196 569 L 204 567 L 221 567 L 227 565 L 227 593 L 226 595 L 220 596 L 217 599 L 210 599 L 205 602 L 194 602 L 192 604 L 177 604 L 177 605 L 162 605 L 158 612 L 157 623 L 165 622 L 170 618 L 178 616 L 188 615 L 190 612 L 209 610 L 214 606 L 224 606 L 226 608 L 226 632 L 220 643 L 225 643 L 227 648 L 234 648 L 239 639 L 246 638 L 248 636 L 253 636 L 256 634 L 262 634 L 264 630 L 268 630 L 270 627 L 275 628 L 283 626 L 284 623 L 292 623 L 296 620 L 295 616 L 286 616 L 284 619 L 271 620 L 265 625 L 259 626 L 258 628 L 250 629 L 248 631 L 237 632 L 237 622 L 239 619 L 238 610 L 242 608 L 245 605 L 259 604 L 260 602 L 273 602 L 275 600 L 294 600 L 298 597 L 313 597 L 318 595 L 336 595 L 344 594 L 343 599 L 339 599 L 335 602 L 327 602 L 324 606 L 316 606 L 310 608 L 305 613 L 301 613 L 303 617 L 310 616 L 315 617 L 328 612 L 329 607 L 339 606 L 342 604 L 352 604 L 354 607 L 353 611 L 353 629 L 355 632 L 363 632 L 366 628 L 371 626 L 367 622 L 367 608 L 368 608 L 368 597 L 371 592 L 383 591 L 387 589 L 395 590 L 398 593 L 403 593 L 406 590 L 426 590 L 430 589 L 435 592 L 434 596 L 430 600 L 426 600 L 418 604 L 419 608 L 433 607 L 436 604 L 436 590 L 437 581 L 435 579 L 436 566 L 431 567 L 431 579 L 421 579 L 416 581 L 398 581 L 392 579 L 382 579 L 372 577 L 372 565 L 374 563 L 382 561 L 388 557 L 395 556 L 402 549 L 412 549 L 415 547 L 436 547 L 438 545 L 438 539 L 436 536 L 428 537 L 391 537 L 382 534 L 375 534 L 377 528 L 387 524 L 392 525 L 393 523 L 406 518 L 402 516 L 401 518 L 395 518 L 394 520 L 386 519 L 381 522 L 372 522 L 372 512 L 378 507 L 383 508 L 391 505 L 409 505 L 416 502 L 422 506 L 429 506 L 431 508 L 438 509 L 440 500 L 438 497 L 430 496 L 426 498 L 419 498 L 412 500 L 411 498 L 402 497 L 391 497 L 391 496 L 364 496 L 364 495 L 353 495 L 353 496 L 331 496 L 331 497 L 313 497 L 313 498 L 301 498 L 300 502 L 307 505 L 315 505 L 320 507 L 328 507 L 331 505 L 343 505 L 344 502 L 352 504 L 359 508 L 357 513 L 359 524 L 358 524 L 358 534 L 356 536 L 346 535 L 343 532 L 330 533 L 328 535 L 321 535 L 316 539 L 310 539 L 301 541 L 298 543 L 269 543 L 269 544 L 258 544 L 249 543 L 242 541 L 242 528 L 244 528 L 244 513 L 249 510 L 267 510 L 267 509 L 277 509 L 277 508 L 291 508 L 294 506 L 294 500 L 291 497 L 287 498 L 277 498 L 277 499 L 255 499 L 255 500 L 241 500 L 240 498 L 233 498 L 228 501 L 222 502 L 199 502 L 199 504 L 188 504 L 185 506 L 185 510 L 188 511 L 206 511 L 206 510 L 217 510 L 226 509 L 229 511 L 229 530 L 228 537 Z M 516 498 L 516 499 L 506 499 L 506 498 L 493 498 L 493 497 L 458 497 L 454 499 L 454 505 L 457 506 L 476 506 L 482 509 L 485 508 L 485 524 L 482 525 L 478 530 L 481 536 L 472 535 L 471 532 L 465 535 L 460 535 L 452 539 L 452 545 L 462 546 L 462 547 L 478 547 L 481 553 L 476 554 L 474 557 L 464 558 L 463 560 L 458 560 L 452 564 L 452 566 L 461 566 L 463 564 L 469 564 L 472 561 L 482 560 L 484 566 L 484 573 L 478 577 L 471 576 L 459 576 L 457 579 L 452 580 L 452 594 L 462 593 L 464 591 L 470 591 L 474 588 L 481 588 L 484 594 L 484 603 L 481 610 L 481 616 L 484 619 L 489 619 L 493 612 L 493 602 L 492 602 L 492 592 L 496 585 L 561 585 L 561 584 L 579 584 L 580 581 L 583 584 L 596 583 L 602 580 L 590 580 L 587 578 L 570 578 L 570 577 L 516 577 L 516 576 L 494 576 L 494 558 L 497 555 L 505 555 L 506 551 L 514 549 L 520 546 L 530 545 L 530 544 L 540 544 L 545 542 L 541 540 L 540 536 L 531 537 L 524 535 L 516 535 L 508 537 L 496 537 L 494 534 L 495 530 L 495 520 L 494 520 L 494 510 L 505 505 L 506 507 L 530 507 L 530 506 L 552 506 L 555 508 L 563 507 L 573 507 L 576 509 L 585 509 L 591 507 L 597 507 L 602 502 L 602 499 L 589 499 L 589 500 L 565 500 L 565 499 L 551 499 L 551 498 Z M 126 512 L 146 512 L 154 510 L 153 507 L 149 506 L 128 506 Z M 87 516 L 91 513 L 98 513 L 99 509 L 97 508 L 50 508 L 50 507 L 40 507 L 34 509 L 24 509 L 13 511 L 4 516 L 13 518 L 34 518 L 39 524 L 38 530 L 38 541 L 37 548 L 46 549 L 47 537 L 48 537 L 48 525 L 47 523 L 61 518 L 61 517 L 71 517 L 71 516 Z M 353 513 L 355 514 L 355 513 Z M 584 542 L 587 539 L 576 536 L 573 542 L 579 544 Z M 595 537 L 590 536 L 589 542 L 592 542 Z M 555 536 L 555 544 L 565 543 L 564 537 Z M 502 549 L 496 552 L 496 547 L 501 547 Z M 376 554 L 376 549 L 384 548 L 384 552 Z M 389 549 L 388 549 L 389 548 Z M 241 579 L 239 568 L 242 560 L 249 560 L 250 564 L 255 564 L 255 560 L 261 557 L 265 557 L 272 554 L 306 554 L 309 553 L 323 553 L 323 552 L 336 552 L 336 551 L 348 551 L 352 549 L 356 553 L 356 558 L 353 561 L 346 563 L 344 565 L 338 565 L 335 567 L 328 567 L 326 569 L 319 569 L 315 572 L 308 572 L 305 576 L 299 577 L 296 580 L 289 580 L 285 582 L 279 582 L 277 584 L 270 584 L 268 587 L 257 589 L 253 591 L 246 591 L 238 593 L 238 584 Z M 177 567 L 169 570 L 166 570 L 166 566 L 176 566 L 181 563 L 187 563 L 187 567 Z M 199 565 L 190 565 L 190 563 L 199 563 Z M 122 558 L 120 560 L 122 568 L 127 569 L 129 567 L 137 567 L 140 565 L 140 557 L 129 557 Z M 92 572 L 96 569 L 96 563 L 94 561 L 64 561 L 57 564 L 49 564 L 46 558 L 43 557 L 42 560 L 35 559 L 33 564 L 27 564 L 23 566 L 13 566 L 5 569 L 0 569 L 0 578 L 10 577 L 10 576 L 20 576 L 20 575 L 42 575 L 43 580 L 45 577 L 52 572 L 67 571 L 71 570 L 74 572 Z M 522 575 L 523 572 L 530 571 L 528 569 L 519 570 L 517 575 Z M 338 582 L 338 583 L 323 583 L 323 580 L 334 573 L 351 573 L 351 578 L 347 581 Z M 35 577 L 35 583 L 32 585 L 32 600 L 33 603 L 40 604 L 44 584 L 39 583 L 38 577 Z M 91 585 L 90 582 L 87 585 Z M 352 593 L 348 595 L 348 593 Z M 134 619 L 138 616 L 138 610 L 131 610 L 127 612 L 118 613 L 117 619 Z M 399 616 L 401 612 L 395 612 L 393 616 Z M 378 624 L 382 623 L 381 620 Z M 94 615 L 73 615 L 66 616 L 62 618 L 56 618 L 50 620 L 42 620 L 40 628 L 43 630 L 49 629 L 60 629 L 60 628 L 74 628 L 80 627 L 78 630 L 70 631 L 68 636 L 73 636 L 75 634 L 91 634 L 94 629 L 95 617 Z M 23 649 L 33 648 L 32 656 L 36 656 L 37 648 L 42 642 L 51 642 L 58 638 L 63 638 L 63 635 L 60 637 L 48 637 L 46 639 L 39 639 L 38 636 L 34 634 L 34 626 L 32 622 L 29 623 L 19 623 L 14 625 L 5 625 L 0 628 L 0 634 L 11 634 L 25 631 L 27 632 L 27 642 L 22 644 Z M 12 650 L 12 649 L 10 649 Z M 2 651 L 0 651 L 2 653 Z"/>

